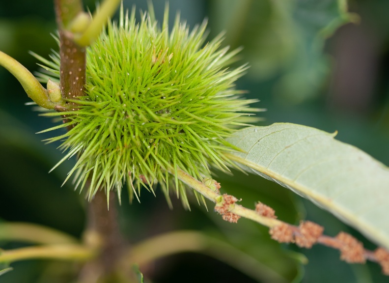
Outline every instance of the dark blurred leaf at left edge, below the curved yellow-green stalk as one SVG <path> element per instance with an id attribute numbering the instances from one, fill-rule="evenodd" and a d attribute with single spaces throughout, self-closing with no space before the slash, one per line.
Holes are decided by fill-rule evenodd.
<path id="1" fill-rule="evenodd" d="M 40 139 L 0 109 L 0 215 L 78 234 L 82 203 L 71 185 L 61 188 L 67 168 L 48 173 L 60 152 Z"/>

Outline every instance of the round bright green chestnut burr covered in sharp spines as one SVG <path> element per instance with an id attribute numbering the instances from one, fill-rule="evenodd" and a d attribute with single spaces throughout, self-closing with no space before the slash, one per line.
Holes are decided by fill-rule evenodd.
<path id="1" fill-rule="evenodd" d="M 234 88 L 246 66 L 227 67 L 238 51 L 220 49 L 222 36 L 205 43 L 205 23 L 192 30 L 179 17 L 172 28 L 167 23 L 167 10 L 162 27 L 152 9 L 139 23 L 134 10 L 130 17 L 121 11 L 119 23 L 109 23 L 87 49 L 85 95 L 73 101 L 77 107 L 46 114 L 64 122 L 46 131 L 70 129 L 48 140 L 63 141 L 66 154 L 56 166 L 76 155 L 67 179 L 88 187 L 89 198 L 102 188 L 120 199 L 124 184 L 138 198 L 142 186 L 153 190 L 159 183 L 168 201 L 175 188 L 189 205 L 177 170 L 200 180 L 210 166 L 228 170 L 224 153 L 239 149 L 225 138 L 253 121 L 249 105 L 256 100 Z M 52 58 L 58 81 L 59 57 Z"/>

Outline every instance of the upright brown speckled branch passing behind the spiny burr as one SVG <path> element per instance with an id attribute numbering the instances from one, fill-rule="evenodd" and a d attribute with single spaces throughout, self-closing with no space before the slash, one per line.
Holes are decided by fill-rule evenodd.
<path id="1" fill-rule="evenodd" d="M 74 41 L 69 31 L 72 21 L 83 13 L 81 0 L 55 0 L 56 22 L 59 30 L 60 89 L 63 99 L 76 100 L 83 96 L 85 85 L 85 47 Z M 68 102 L 68 110 L 75 110 L 76 103 Z M 56 109 L 63 111 L 65 109 Z M 99 247 L 100 254 L 87 262 L 81 273 L 82 282 L 97 282 L 115 273 L 115 268 L 126 244 L 119 231 L 116 195 L 110 194 L 109 207 L 105 191 L 99 190 L 88 203 L 86 243 Z"/>

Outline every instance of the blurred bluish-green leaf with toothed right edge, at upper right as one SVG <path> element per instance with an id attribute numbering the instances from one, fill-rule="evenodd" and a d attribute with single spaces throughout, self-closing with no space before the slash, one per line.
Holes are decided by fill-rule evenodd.
<path id="1" fill-rule="evenodd" d="M 323 54 L 325 40 L 340 26 L 356 20 L 347 11 L 347 0 L 295 0 L 295 53 L 276 85 L 281 98 L 295 103 L 318 93 L 330 71 Z"/>

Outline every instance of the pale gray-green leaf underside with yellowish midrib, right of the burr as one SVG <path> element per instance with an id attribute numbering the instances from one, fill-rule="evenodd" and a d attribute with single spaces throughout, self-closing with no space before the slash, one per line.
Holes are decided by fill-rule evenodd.
<path id="1" fill-rule="evenodd" d="M 237 131 L 228 142 L 244 169 L 274 180 L 389 249 L 389 169 L 335 134 L 277 123 Z"/>

